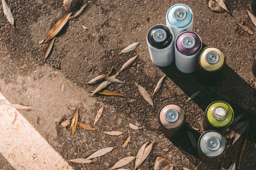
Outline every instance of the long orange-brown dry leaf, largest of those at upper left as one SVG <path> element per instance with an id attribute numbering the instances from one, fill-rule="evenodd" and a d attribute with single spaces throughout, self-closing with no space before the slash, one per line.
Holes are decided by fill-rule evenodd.
<path id="1" fill-rule="evenodd" d="M 44 41 L 47 42 L 49 40 L 51 40 L 53 37 L 55 37 L 59 31 L 61 31 L 61 29 L 66 25 L 66 23 L 69 20 L 70 15 L 72 14 L 72 12 L 70 12 L 69 14 L 65 15 L 63 18 L 61 18 L 61 20 L 59 20 L 48 32 L 47 36 L 46 36 L 46 40 Z"/>

